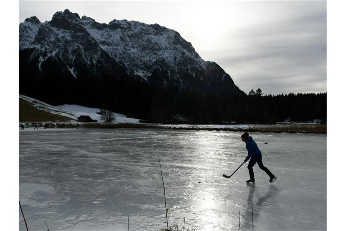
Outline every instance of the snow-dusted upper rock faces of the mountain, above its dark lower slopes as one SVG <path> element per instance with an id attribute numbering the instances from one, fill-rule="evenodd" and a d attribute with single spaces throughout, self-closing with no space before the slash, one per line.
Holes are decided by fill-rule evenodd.
<path id="1" fill-rule="evenodd" d="M 69 13 L 68 15 L 72 14 L 69 10 L 65 11 L 66 14 Z M 137 75 L 143 79 L 148 78 L 145 72 L 150 72 L 150 70 L 147 69 L 157 61 L 158 57 L 163 57 L 169 66 L 181 64 L 181 60 L 186 58 L 199 64 L 200 68 L 205 66 L 203 65 L 205 61 L 202 60 L 193 48 L 192 50 L 186 50 L 186 47 L 183 47 L 186 41 L 184 41 L 180 34 L 173 29 L 158 24 L 149 25 L 138 21 L 128 21 L 126 19 L 115 19 L 109 24 L 98 23 L 87 16 L 83 16 L 79 20 L 74 20 L 75 17 L 67 17 L 65 11 L 56 12 L 55 17 L 66 17 L 68 20 L 81 25 L 88 31 L 91 37 L 95 39 L 103 51 L 106 51 L 116 62 L 124 63 L 126 69 L 137 70 Z M 57 45 L 60 46 L 61 43 L 67 42 L 73 44 L 73 39 L 71 37 L 71 33 L 73 32 L 70 30 L 53 27 L 50 25 L 50 21 L 38 23 L 36 25 L 31 21 L 35 23 L 35 20 L 30 20 L 21 23 L 19 26 L 22 28 L 20 29 L 20 35 L 22 35 L 20 47 L 37 47 L 39 50 L 43 51 L 42 48 L 39 47 L 39 44 L 33 42 L 39 27 L 42 27 L 43 32 L 46 31 L 49 36 L 49 38 L 45 38 L 45 45 L 48 45 L 48 47 L 44 52 L 46 52 L 47 56 L 49 56 L 49 53 L 53 53 L 53 47 L 57 47 Z M 113 25 L 119 25 L 119 28 L 115 26 L 114 28 L 116 29 L 114 29 L 112 28 Z M 27 28 L 30 28 L 29 32 L 25 31 Z M 191 43 L 190 46 L 192 47 Z M 70 56 L 72 56 L 71 50 L 75 48 L 78 47 L 68 47 Z M 88 57 L 88 55 L 84 53 L 84 49 L 81 49 L 81 52 L 83 52 L 83 59 L 89 67 L 92 62 L 97 60 L 96 57 Z M 54 55 L 55 53 L 53 53 L 53 57 Z M 94 55 L 97 54 L 92 54 L 92 56 Z M 69 60 L 65 60 L 65 63 L 70 62 Z M 68 65 L 67 68 L 75 77 L 76 73 L 72 71 L 71 64 Z M 143 70 L 143 74 L 140 73 L 141 70 Z"/>

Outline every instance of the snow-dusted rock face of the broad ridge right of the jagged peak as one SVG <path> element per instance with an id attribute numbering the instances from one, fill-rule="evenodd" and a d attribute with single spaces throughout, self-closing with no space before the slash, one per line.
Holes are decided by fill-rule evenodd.
<path id="1" fill-rule="evenodd" d="M 140 74 L 140 70 L 144 70 L 144 66 L 152 66 L 158 57 L 163 57 L 169 66 L 176 66 L 185 57 L 194 60 L 200 68 L 206 66 L 203 65 L 205 61 L 195 51 L 188 51 L 179 42 L 176 43 L 176 39 L 184 40 L 179 33 L 158 24 L 113 20 L 107 26 L 96 26 L 103 24 L 88 18 L 83 18 L 82 24 L 115 61 L 124 63 L 128 69 L 136 70 L 137 75 L 144 79 L 147 77 Z M 120 27 L 112 29 L 113 24 Z"/>

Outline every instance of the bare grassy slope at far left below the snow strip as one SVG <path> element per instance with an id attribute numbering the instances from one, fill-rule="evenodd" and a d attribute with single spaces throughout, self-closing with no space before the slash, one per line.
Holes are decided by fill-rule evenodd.
<path id="1" fill-rule="evenodd" d="M 19 122 L 69 122 L 71 118 L 39 110 L 33 104 L 19 98 Z"/>

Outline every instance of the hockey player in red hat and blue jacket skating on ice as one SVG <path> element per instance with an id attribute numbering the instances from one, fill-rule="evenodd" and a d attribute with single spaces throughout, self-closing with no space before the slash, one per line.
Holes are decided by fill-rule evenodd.
<path id="1" fill-rule="evenodd" d="M 271 171 L 269 171 L 269 169 L 263 166 L 262 153 L 260 149 L 258 148 L 256 142 L 252 139 L 251 136 L 249 136 L 249 133 L 247 132 L 245 132 L 242 135 L 242 141 L 246 143 L 246 149 L 248 152 L 248 155 L 245 158 L 244 162 L 247 162 L 247 160 L 251 158 L 249 164 L 247 165 L 247 169 L 249 169 L 250 179 L 247 180 L 246 183 L 255 182 L 254 170 L 252 169 L 255 163 L 257 163 L 258 167 L 260 167 L 260 169 L 265 171 L 266 174 L 270 177 L 269 182 L 273 183 L 274 180 L 276 180 L 276 177 L 274 176 L 274 174 L 272 174 Z"/>

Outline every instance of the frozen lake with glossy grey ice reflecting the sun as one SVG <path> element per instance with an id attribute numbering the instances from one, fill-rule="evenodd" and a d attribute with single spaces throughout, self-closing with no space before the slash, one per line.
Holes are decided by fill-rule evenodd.
<path id="1" fill-rule="evenodd" d="M 48 129 L 19 132 L 19 198 L 29 230 L 326 230 L 327 136 L 250 133 L 263 164 L 249 179 L 240 132 Z M 268 142 L 268 144 L 264 144 Z M 199 183 L 199 181 L 201 183 Z M 253 205 L 254 227 L 252 227 Z M 26 230 L 19 209 L 19 229 Z"/>

